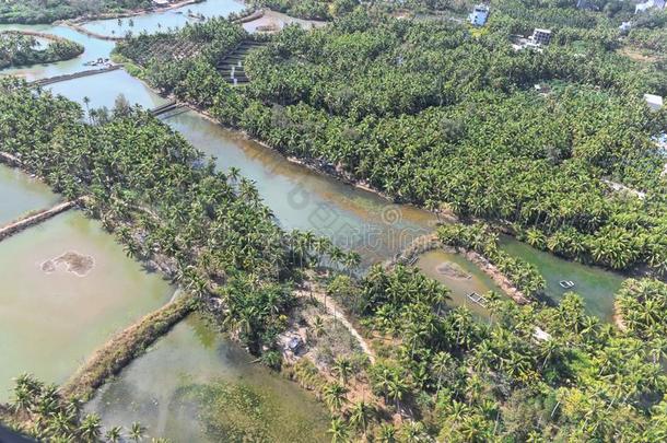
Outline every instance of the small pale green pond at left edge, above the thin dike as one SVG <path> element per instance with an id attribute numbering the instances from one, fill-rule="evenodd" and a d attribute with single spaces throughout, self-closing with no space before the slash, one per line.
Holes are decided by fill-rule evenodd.
<path id="1" fill-rule="evenodd" d="M 48 186 L 0 163 L 0 226 L 60 201 Z"/>

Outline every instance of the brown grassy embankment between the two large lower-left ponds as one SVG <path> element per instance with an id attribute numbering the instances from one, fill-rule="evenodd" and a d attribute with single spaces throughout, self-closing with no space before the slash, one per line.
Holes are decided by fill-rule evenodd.
<path id="1" fill-rule="evenodd" d="M 130 361 L 195 311 L 196 303 L 189 295 L 177 298 L 113 337 L 62 385 L 62 397 L 90 398 L 110 376 L 118 374 Z"/>

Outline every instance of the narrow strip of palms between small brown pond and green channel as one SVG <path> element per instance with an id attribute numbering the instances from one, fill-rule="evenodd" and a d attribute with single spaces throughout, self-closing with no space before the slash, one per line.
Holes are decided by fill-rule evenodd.
<path id="1" fill-rule="evenodd" d="M 437 229 L 437 237 L 446 245 L 480 254 L 527 296 L 535 296 L 545 289 L 545 278 L 535 266 L 501 250 L 498 234 L 484 224 L 444 224 Z"/>

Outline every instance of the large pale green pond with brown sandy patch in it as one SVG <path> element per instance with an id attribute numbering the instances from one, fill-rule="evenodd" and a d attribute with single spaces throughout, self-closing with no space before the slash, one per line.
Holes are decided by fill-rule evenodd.
<path id="1" fill-rule="evenodd" d="M 68 252 L 87 261 L 78 263 Z M 66 267 L 87 269 L 43 269 L 55 257 L 68 257 Z M 98 222 L 78 211 L 2 241 L 0 282 L 0 401 L 9 398 L 12 377 L 23 372 L 65 382 L 114 333 L 163 305 L 174 292 L 127 258 Z"/>

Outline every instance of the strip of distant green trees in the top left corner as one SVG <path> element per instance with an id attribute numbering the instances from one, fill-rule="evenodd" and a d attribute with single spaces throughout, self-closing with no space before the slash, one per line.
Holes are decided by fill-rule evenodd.
<path id="1" fill-rule="evenodd" d="M 86 14 L 149 8 L 152 0 L 3 0 L 0 23 L 52 23 Z"/>

